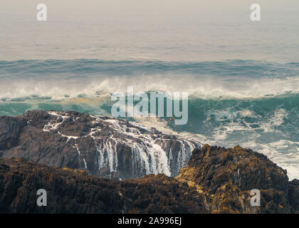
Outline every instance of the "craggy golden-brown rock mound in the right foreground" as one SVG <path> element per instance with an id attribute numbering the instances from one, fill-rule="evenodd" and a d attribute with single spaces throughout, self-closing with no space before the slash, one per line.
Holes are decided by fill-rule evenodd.
<path id="1" fill-rule="evenodd" d="M 179 181 L 197 187 L 213 213 L 293 213 L 298 211 L 299 185 L 265 155 L 236 146 L 204 145 L 194 150 Z M 261 191 L 261 207 L 251 207 L 251 190 Z"/>

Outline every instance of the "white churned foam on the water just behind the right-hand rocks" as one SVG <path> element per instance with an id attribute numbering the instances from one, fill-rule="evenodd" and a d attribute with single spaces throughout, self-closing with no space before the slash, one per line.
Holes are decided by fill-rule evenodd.
<path id="1" fill-rule="evenodd" d="M 194 134 L 189 132 L 178 133 L 169 128 L 166 120 L 156 118 L 138 118 L 142 125 L 152 126 L 169 135 L 179 135 L 179 137 L 198 140 L 209 145 L 225 147 L 251 148 L 266 155 L 271 161 L 288 171 L 290 180 L 299 177 L 299 142 L 294 142 L 283 138 L 283 133 L 278 129 L 283 125 L 288 112 L 283 108 L 276 109 L 268 119 L 261 118 L 253 110 L 221 110 L 213 111 L 211 115 L 216 116 L 216 121 L 222 123 L 219 127 L 212 129 L 212 135 Z M 252 128 L 252 123 L 246 123 L 239 116 L 255 118 L 256 128 Z M 210 116 L 208 115 L 207 120 Z M 278 136 L 273 136 L 278 135 Z"/>

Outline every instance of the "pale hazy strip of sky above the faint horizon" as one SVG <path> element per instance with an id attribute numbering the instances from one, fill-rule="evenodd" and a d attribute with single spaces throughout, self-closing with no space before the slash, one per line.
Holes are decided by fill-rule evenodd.
<path id="1" fill-rule="evenodd" d="M 0 16 L 12 19 L 35 19 L 37 4 L 48 6 L 49 19 L 95 19 L 103 15 L 134 18 L 147 16 L 149 20 L 167 16 L 229 17 L 229 14 L 248 14 L 250 5 L 258 3 L 265 14 L 288 16 L 290 11 L 299 11 L 298 0 L 1 0 Z M 247 15 L 244 15 L 245 17 Z M 247 16 L 248 17 L 248 16 Z"/>

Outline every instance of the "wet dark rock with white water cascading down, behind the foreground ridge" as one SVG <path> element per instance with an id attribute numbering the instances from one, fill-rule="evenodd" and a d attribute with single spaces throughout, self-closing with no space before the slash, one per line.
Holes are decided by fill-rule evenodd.
<path id="1" fill-rule="evenodd" d="M 200 147 L 199 142 L 117 118 L 41 110 L 0 117 L 0 157 L 22 157 L 100 177 L 174 177 Z"/>

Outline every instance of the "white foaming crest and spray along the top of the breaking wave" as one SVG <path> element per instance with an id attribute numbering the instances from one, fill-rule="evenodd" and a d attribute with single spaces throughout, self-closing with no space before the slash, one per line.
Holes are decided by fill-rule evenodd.
<path id="1" fill-rule="evenodd" d="M 70 100 L 72 98 L 100 98 L 112 93 L 126 93 L 127 86 L 135 92 L 188 92 L 190 98 L 247 99 L 267 98 L 299 93 L 299 78 L 267 78 L 244 81 L 217 81 L 191 76 L 142 76 L 104 78 L 100 81 L 10 81 L 1 83 L 0 99 Z"/>

